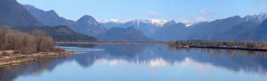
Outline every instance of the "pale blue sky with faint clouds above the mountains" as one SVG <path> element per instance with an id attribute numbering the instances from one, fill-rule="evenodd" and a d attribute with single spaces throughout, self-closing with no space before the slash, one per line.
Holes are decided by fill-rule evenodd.
<path id="1" fill-rule="evenodd" d="M 17 0 L 58 15 L 78 20 L 91 15 L 96 20 L 167 19 L 176 22 L 217 20 L 267 11 L 267 0 Z"/>

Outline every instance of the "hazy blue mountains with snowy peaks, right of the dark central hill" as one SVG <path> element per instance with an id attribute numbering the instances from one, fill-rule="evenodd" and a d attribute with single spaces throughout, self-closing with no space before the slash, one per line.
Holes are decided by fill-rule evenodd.
<path id="1" fill-rule="evenodd" d="M 197 22 L 192 25 L 176 23 L 173 20 L 156 19 L 132 20 L 119 24 L 117 24 L 117 22 L 106 22 L 101 24 L 122 28 L 133 26 L 142 31 L 145 36 L 164 41 L 207 39 L 263 40 L 259 38 L 249 39 L 245 37 L 248 35 L 247 33 L 254 31 L 254 29 L 266 19 L 267 12 L 263 12 L 259 15 L 246 15 L 245 17 L 236 15 L 211 22 Z"/>

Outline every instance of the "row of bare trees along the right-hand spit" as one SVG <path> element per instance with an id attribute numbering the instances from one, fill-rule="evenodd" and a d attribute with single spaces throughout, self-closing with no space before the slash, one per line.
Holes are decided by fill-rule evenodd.
<path id="1" fill-rule="evenodd" d="M 254 40 L 169 40 L 169 45 L 267 48 L 266 41 Z"/>

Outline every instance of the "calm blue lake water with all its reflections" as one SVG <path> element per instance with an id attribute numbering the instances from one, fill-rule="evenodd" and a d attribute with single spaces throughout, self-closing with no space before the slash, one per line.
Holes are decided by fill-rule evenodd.
<path id="1" fill-rule="evenodd" d="M 0 68 L 8 81 L 264 81 L 266 52 L 160 45 L 63 45 L 70 57 Z M 73 48 L 73 49 L 72 49 Z"/>

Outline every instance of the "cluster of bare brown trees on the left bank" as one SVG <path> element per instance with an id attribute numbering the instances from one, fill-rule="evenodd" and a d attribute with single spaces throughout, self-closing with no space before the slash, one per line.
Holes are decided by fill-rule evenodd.
<path id="1" fill-rule="evenodd" d="M 16 50 L 18 54 L 51 52 L 57 50 L 53 38 L 44 31 L 34 30 L 31 34 L 0 27 L 0 50 Z"/>

